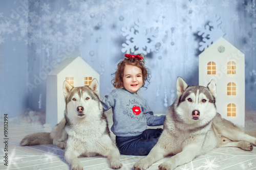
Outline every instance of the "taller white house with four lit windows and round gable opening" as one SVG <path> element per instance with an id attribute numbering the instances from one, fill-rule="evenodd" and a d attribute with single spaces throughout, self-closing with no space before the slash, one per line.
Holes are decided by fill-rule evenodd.
<path id="1" fill-rule="evenodd" d="M 244 127 L 244 54 L 224 38 L 199 55 L 199 85 L 206 86 L 211 79 L 217 85 L 217 111 L 223 118 Z"/>

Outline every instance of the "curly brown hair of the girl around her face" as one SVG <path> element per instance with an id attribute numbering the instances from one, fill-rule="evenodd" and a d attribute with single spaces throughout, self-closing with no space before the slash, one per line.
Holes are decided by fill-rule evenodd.
<path id="1" fill-rule="evenodd" d="M 138 60 L 136 58 L 125 58 L 123 61 L 118 63 L 117 65 L 117 70 L 113 74 L 115 75 L 114 79 L 111 81 L 113 86 L 115 88 L 123 88 L 123 70 L 125 65 L 133 65 L 141 69 L 142 71 L 142 80 L 143 80 L 143 85 L 142 87 L 145 87 L 145 82 L 147 81 L 150 83 L 150 70 L 145 67 L 145 61 L 144 61 L 144 56 L 142 54 L 138 54 L 139 56 L 143 57 L 143 59 Z"/>

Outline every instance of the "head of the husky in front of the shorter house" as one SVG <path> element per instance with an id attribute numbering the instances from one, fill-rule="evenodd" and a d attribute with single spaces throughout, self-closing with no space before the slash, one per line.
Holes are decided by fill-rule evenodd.
<path id="1" fill-rule="evenodd" d="M 64 81 L 63 93 L 66 101 L 65 117 L 72 121 L 75 118 L 83 118 L 91 114 L 102 112 L 102 106 L 98 98 L 99 85 L 93 79 L 89 86 L 73 87 Z"/>

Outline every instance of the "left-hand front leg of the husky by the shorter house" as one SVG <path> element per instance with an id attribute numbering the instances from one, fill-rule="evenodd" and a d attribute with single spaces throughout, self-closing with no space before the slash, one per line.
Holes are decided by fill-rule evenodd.
<path id="1" fill-rule="evenodd" d="M 78 159 L 78 156 L 80 156 L 80 154 L 77 151 L 74 151 L 74 149 L 72 150 L 73 151 L 66 150 L 64 158 L 71 165 L 72 170 L 82 170 L 83 166 Z"/>

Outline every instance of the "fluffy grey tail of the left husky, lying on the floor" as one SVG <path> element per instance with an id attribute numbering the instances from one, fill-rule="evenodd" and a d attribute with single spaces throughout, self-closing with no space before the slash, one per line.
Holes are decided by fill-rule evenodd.
<path id="1" fill-rule="evenodd" d="M 53 139 L 50 136 L 50 133 L 47 132 L 40 132 L 40 133 L 33 133 L 30 135 L 25 136 L 20 145 L 36 145 L 36 144 L 53 144 Z"/>

